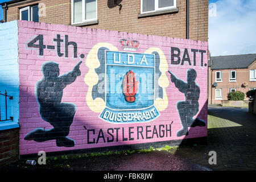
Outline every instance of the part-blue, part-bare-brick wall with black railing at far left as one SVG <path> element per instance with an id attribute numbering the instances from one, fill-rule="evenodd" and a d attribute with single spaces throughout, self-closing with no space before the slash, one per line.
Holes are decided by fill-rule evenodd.
<path id="1" fill-rule="evenodd" d="M 17 22 L 0 23 L 0 166 L 19 159 L 18 71 Z"/>

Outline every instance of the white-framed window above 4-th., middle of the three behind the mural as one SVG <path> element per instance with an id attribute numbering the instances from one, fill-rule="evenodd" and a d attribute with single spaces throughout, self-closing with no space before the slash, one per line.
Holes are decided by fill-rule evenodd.
<path id="1" fill-rule="evenodd" d="M 72 24 L 97 20 L 97 0 L 72 0 Z"/>

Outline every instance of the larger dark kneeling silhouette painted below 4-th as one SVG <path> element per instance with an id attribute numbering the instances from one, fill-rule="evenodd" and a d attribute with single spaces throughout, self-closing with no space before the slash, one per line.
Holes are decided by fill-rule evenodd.
<path id="1" fill-rule="evenodd" d="M 77 76 L 81 75 L 79 69 L 82 61 L 76 64 L 72 71 L 59 76 L 59 64 L 49 61 L 42 65 L 42 80 L 36 82 L 36 99 L 39 103 L 39 113 L 44 121 L 49 122 L 53 129 L 37 128 L 26 135 L 25 140 L 44 142 L 56 139 L 59 147 L 73 147 L 75 141 L 69 139 L 69 127 L 76 113 L 76 105 L 61 103 L 63 89 L 72 84 Z"/>

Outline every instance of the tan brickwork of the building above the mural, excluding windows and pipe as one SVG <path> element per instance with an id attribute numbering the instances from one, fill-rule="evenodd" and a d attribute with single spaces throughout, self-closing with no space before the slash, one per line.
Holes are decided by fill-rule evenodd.
<path id="1" fill-rule="evenodd" d="M 19 8 L 39 2 L 46 4 L 46 16 L 40 17 L 40 22 L 71 24 L 71 1 L 68 0 L 15 3 L 9 5 L 7 20 L 19 19 Z M 119 14 L 118 6 L 110 9 L 107 1 L 98 0 L 98 24 L 87 27 L 185 39 L 186 1 L 177 0 L 178 13 L 146 18 L 138 18 L 138 14 L 141 13 L 140 1 L 122 1 L 121 4 L 122 10 Z M 207 0 L 189 1 L 189 39 L 208 41 Z"/>

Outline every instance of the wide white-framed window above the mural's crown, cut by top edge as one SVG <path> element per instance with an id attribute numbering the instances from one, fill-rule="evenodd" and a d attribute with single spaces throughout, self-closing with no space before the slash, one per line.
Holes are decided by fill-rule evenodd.
<path id="1" fill-rule="evenodd" d="M 141 13 L 175 9 L 176 0 L 141 0 Z"/>

